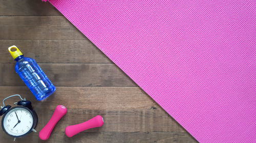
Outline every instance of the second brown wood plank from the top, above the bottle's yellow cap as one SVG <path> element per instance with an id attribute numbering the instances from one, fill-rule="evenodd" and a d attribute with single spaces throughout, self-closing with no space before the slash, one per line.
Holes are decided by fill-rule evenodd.
<path id="1" fill-rule="evenodd" d="M 0 16 L 1 40 L 88 40 L 64 16 Z"/>

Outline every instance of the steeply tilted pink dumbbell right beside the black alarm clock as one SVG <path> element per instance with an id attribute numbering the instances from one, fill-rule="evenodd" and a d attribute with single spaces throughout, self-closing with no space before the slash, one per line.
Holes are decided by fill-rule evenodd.
<path id="1" fill-rule="evenodd" d="M 50 134 L 52 133 L 54 126 L 66 114 L 66 112 L 67 108 L 65 106 L 58 105 L 54 110 L 52 118 L 49 120 L 46 126 L 42 128 L 39 132 L 39 138 L 42 140 L 48 139 L 50 137 Z"/>

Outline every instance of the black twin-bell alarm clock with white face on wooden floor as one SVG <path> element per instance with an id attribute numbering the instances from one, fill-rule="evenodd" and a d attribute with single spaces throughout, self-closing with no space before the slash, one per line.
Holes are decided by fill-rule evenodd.
<path id="1" fill-rule="evenodd" d="M 21 99 L 18 102 L 15 102 L 15 107 L 11 105 L 5 106 L 5 100 L 19 96 Z M 3 100 L 3 106 L 1 106 L 0 116 L 4 115 L 2 118 L 2 128 L 6 134 L 14 137 L 22 137 L 27 135 L 30 132 L 36 132 L 35 128 L 37 125 L 37 114 L 32 108 L 32 103 L 26 98 L 22 99 L 20 95 L 11 95 Z"/>

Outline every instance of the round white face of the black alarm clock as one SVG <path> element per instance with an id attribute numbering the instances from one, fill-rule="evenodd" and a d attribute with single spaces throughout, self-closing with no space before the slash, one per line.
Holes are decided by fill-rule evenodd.
<path id="1" fill-rule="evenodd" d="M 13 107 L 3 117 L 2 126 L 6 133 L 12 136 L 22 136 L 33 126 L 33 116 L 26 107 Z"/>

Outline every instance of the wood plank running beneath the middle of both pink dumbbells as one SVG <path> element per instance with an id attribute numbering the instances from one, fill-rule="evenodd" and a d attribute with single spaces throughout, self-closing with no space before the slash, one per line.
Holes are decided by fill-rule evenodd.
<path id="1" fill-rule="evenodd" d="M 40 119 L 37 129 L 41 130 L 50 120 L 53 110 L 37 109 L 37 113 Z M 104 126 L 86 132 L 186 132 L 162 109 L 68 110 L 55 131 L 64 131 L 69 125 L 86 122 L 97 115 L 103 117 Z"/>

